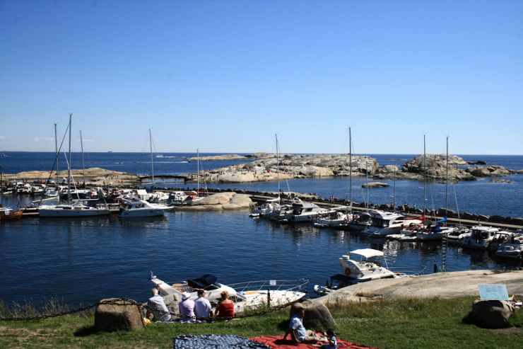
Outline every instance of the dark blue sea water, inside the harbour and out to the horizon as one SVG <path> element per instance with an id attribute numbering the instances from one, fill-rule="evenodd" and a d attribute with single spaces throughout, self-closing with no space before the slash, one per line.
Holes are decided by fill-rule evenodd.
<path id="1" fill-rule="evenodd" d="M 216 154 L 200 154 L 208 156 Z M 367 154 L 380 165 L 401 165 L 414 154 Z M 196 161 L 188 153 L 153 154 L 155 176 L 196 172 Z M 523 156 L 461 155 L 466 161 L 485 161 L 510 169 L 523 168 Z M 151 174 L 149 153 L 86 153 L 86 168 Z M 249 160 L 200 161 L 210 170 Z M 0 152 L 4 173 L 51 171 L 54 153 Z M 81 154 L 73 153 L 72 168 L 81 168 Z M 66 168 L 60 159 L 59 168 Z M 523 217 L 523 175 L 505 177 L 508 183 L 480 181 L 449 184 L 428 183 L 428 208 L 447 206 L 450 210 L 476 214 Z M 382 181 L 387 188 L 361 187 L 366 178 L 307 178 L 282 181 L 283 190 L 315 193 L 325 198 L 384 204 L 406 202 L 423 207 L 423 183 Z M 381 180 L 380 180 L 381 181 Z M 200 183 L 208 188 L 276 191 L 276 182 Z M 195 188 L 195 184 L 155 183 L 164 188 Z M 445 196 L 445 192 L 447 195 Z M 4 196 L 4 204 L 23 205 L 29 198 Z M 167 282 L 197 278 L 211 273 L 218 282 L 254 280 L 309 280 L 323 285 L 339 273 L 338 258 L 357 248 L 384 251 L 390 269 L 405 273 L 433 273 L 445 262 L 447 271 L 470 269 L 510 270 L 522 262 L 503 261 L 488 251 L 469 251 L 441 243 L 399 243 L 367 239 L 351 231 L 318 229 L 308 224 L 281 225 L 248 217 L 248 210 L 224 212 L 168 212 L 165 217 L 119 219 L 26 218 L 0 223 L 0 301 L 41 307 L 54 299 L 71 307 L 90 304 L 107 297 L 127 297 L 143 302 L 153 286 L 154 273 Z"/>

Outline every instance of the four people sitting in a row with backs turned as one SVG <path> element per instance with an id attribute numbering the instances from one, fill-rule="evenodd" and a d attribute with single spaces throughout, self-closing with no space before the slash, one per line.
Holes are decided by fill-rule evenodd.
<path id="1" fill-rule="evenodd" d="M 235 317 L 234 302 L 230 300 L 229 292 L 226 290 L 221 292 L 221 299 L 216 304 L 214 311 L 212 310 L 211 302 L 206 298 L 206 290 L 198 290 L 197 293 L 198 298 L 196 300 L 191 299 L 189 292 L 182 293 L 182 302 L 178 303 L 180 322 L 194 323 L 210 321 L 213 318 L 232 319 Z M 146 317 L 149 318 L 153 314 L 153 321 L 172 321 L 163 297 L 158 294 L 158 289 L 153 288 L 151 294 L 153 297 L 148 299 Z"/>

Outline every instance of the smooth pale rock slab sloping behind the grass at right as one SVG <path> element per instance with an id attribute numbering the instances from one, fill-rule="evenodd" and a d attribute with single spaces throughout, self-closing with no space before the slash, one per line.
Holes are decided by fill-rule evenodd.
<path id="1" fill-rule="evenodd" d="M 325 297 L 323 303 L 360 301 L 362 298 L 383 297 L 442 297 L 478 296 L 479 284 L 507 285 L 509 295 L 523 294 L 523 270 L 498 272 L 493 270 L 466 270 L 435 273 L 413 278 L 382 279 L 343 287 Z M 358 295 L 359 294 L 359 295 Z M 362 294 L 365 297 L 362 297 Z"/>

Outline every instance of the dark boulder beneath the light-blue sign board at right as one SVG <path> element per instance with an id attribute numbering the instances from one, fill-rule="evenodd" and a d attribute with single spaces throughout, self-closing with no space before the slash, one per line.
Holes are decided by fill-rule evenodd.
<path id="1" fill-rule="evenodd" d="M 483 328 L 505 328 L 515 308 L 510 302 L 476 299 L 469 320 Z"/>

